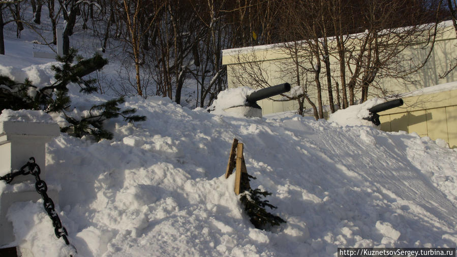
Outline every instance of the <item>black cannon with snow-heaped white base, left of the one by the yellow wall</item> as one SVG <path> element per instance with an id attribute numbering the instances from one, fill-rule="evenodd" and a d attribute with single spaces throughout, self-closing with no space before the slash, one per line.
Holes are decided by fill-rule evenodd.
<path id="1" fill-rule="evenodd" d="M 208 108 L 214 114 L 229 114 L 237 117 L 262 117 L 262 108 L 257 101 L 290 91 L 289 83 L 253 91 L 239 87 L 222 91 L 218 99 Z"/>

